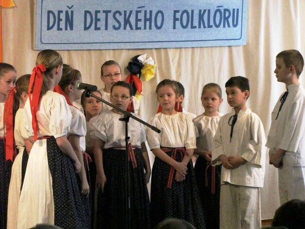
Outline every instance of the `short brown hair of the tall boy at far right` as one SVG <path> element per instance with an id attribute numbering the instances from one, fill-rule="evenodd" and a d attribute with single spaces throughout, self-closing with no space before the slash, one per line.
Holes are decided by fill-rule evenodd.
<path id="1" fill-rule="evenodd" d="M 299 78 L 299 76 L 303 72 L 304 58 L 302 57 L 302 54 L 298 50 L 295 49 L 284 50 L 280 52 L 278 55 L 276 55 L 276 58 L 283 58 L 286 67 L 293 65 L 295 67 L 296 74 Z"/>

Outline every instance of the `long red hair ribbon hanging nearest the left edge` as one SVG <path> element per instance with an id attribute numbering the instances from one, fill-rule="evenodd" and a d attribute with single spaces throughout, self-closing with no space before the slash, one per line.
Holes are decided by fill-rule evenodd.
<path id="1" fill-rule="evenodd" d="M 17 155 L 16 144 L 14 138 L 14 94 L 15 88 L 13 88 L 8 94 L 4 104 L 4 116 L 3 122 L 5 125 L 5 159 L 13 161 Z"/>

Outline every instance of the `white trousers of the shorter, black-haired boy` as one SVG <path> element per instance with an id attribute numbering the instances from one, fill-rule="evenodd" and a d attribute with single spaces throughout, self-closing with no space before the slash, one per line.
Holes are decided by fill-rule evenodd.
<path id="1" fill-rule="evenodd" d="M 259 188 L 231 184 L 220 187 L 220 229 L 260 229 Z"/>

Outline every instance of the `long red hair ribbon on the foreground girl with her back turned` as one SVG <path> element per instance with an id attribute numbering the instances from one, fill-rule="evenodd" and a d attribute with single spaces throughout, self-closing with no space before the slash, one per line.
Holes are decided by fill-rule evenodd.
<path id="1" fill-rule="evenodd" d="M 30 100 L 31 113 L 32 113 L 34 140 L 37 140 L 38 123 L 37 123 L 36 113 L 40 100 L 40 92 L 43 84 L 43 78 L 41 73 L 45 71 L 46 71 L 46 67 L 43 64 L 38 64 L 37 66 L 34 67 L 30 78 L 29 100 Z M 32 88 L 33 88 L 33 94 L 32 94 Z"/>

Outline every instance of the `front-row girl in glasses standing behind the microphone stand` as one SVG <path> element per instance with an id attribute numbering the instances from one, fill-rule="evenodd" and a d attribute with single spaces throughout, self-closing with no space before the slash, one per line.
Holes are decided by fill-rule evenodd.
<path id="1" fill-rule="evenodd" d="M 127 109 L 132 88 L 124 82 L 113 84 L 110 91 L 113 105 Z M 96 164 L 97 224 L 96 228 L 126 228 L 125 194 L 125 122 L 116 109 L 91 118 Z M 129 176 L 130 176 L 130 228 L 150 228 L 147 183 L 150 165 L 145 146 L 146 128 L 130 118 L 128 123 Z M 145 173 L 144 173 L 145 170 Z"/>

